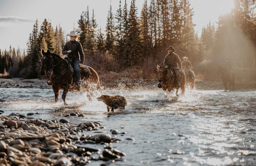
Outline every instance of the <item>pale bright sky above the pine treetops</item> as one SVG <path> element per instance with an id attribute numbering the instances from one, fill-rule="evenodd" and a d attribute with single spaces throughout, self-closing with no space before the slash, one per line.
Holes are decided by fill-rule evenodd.
<path id="1" fill-rule="evenodd" d="M 126 1 L 129 9 L 131 0 Z M 190 0 L 191 7 L 194 8 L 195 31 L 201 35 L 202 27 L 206 26 L 210 20 L 216 22 L 220 15 L 231 11 L 234 6 L 233 1 Z M 143 3 L 144 0 L 136 0 L 139 16 Z M 87 6 L 89 6 L 90 17 L 94 9 L 98 25 L 105 30 L 109 5 L 110 0 L 0 0 L 0 49 L 9 50 L 10 45 L 16 49 L 18 47 L 26 49 L 28 37 L 36 19 L 39 25 L 45 18 L 50 20 L 54 29 L 60 24 L 68 34 L 74 26 L 78 27 L 77 21 L 82 11 L 87 10 Z M 119 0 L 112 0 L 111 5 L 115 14 Z M 122 0 L 123 5 L 124 0 Z"/>

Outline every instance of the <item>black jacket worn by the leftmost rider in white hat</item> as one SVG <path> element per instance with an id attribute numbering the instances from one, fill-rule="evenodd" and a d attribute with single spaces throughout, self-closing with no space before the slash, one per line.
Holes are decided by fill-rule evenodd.
<path id="1" fill-rule="evenodd" d="M 68 50 L 71 50 L 72 52 L 68 53 Z M 62 54 L 68 54 L 70 59 L 78 60 L 80 64 L 84 64 L 84 51 L 82 49 L 81 43 L 78 41 L 66 42 L 64 48 L 62 49 Z"/>

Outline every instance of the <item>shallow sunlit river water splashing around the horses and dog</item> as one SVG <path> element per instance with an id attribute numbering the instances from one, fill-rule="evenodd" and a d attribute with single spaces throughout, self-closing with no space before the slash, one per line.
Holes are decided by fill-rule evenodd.
<path id="1" fill-rule="evenodd" d="M 1 88 L 3 115 L 38 112 L 43 119 L 57 119 L 70 112 L 71 123 L 101 122 L 106 130 L 127 132 L 113 147 L 124 151 L 124 161 L 93 161 L 88 165 L 254 165 L 256 162 L 256 90 L 187 90 L 180 97 L 156 90 L 103 90 L 123 95 L 124 110 L 106 114 L 103 102 L 89 102 L 86 94 L 68 93 L 67 103 L 54 103 L 50 89 Z M 100 94 L 96 94 L 100 96 Z M 95 96 L 95 97 L 96 97 Z M 61 97 L 60 97 L 61 101 Z M 86 132 L 86 134 L 89 134 Z M 92 133 L 93 134 L 93 133 Z M 133 138 L 134 140 L 126 140 Z M 102 146 L 99 146 L 102 148 Z M 103 149 L 102 149 L 103 150 Z"/>

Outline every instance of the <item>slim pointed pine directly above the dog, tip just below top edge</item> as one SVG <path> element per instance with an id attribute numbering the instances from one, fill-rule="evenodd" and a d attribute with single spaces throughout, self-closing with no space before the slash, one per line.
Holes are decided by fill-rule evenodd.
<path id="1" fill-rule="evenodd" d="M 107 26 L 106 26 L 106 42 L 105 42 L 105 50 L 109 51 L 110 54 L 113 54 L 114 51 L 114 18 L 112 13 L 112 6 L 110 4 L 110 9 L 108 11 L 107 17 Z"/>

